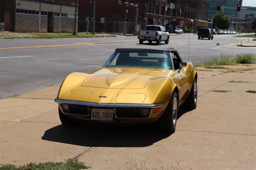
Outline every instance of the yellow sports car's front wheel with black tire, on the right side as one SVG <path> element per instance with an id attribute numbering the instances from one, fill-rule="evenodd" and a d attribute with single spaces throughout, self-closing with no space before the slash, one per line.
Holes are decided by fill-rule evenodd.
<path id="1" fill-rule="evenodd" d="M 176 103 L 176 107 L 175 107 L 175 103 Z M 160 127 L 164 132 L 172 133 L 175 131 L 177 116 L 178 116 L 178 95 L 176 91 L 174 91 L 168 106 L 166 107 L 163 115 L 159 118 Z"/>

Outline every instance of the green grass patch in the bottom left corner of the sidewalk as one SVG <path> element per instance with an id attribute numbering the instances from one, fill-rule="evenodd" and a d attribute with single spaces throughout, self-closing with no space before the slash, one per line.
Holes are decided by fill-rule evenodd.
<path id="1" fill-rule="evenodd" d="M 66 162 L 46 162 L 46 163 L 29 163 L 24 166 L 15 166 L 6 164 L 0 167 L 0 170 L 81 170 L 88 169 L 84 162 L 79 162 L 78 158 L 68 159 Z"/>

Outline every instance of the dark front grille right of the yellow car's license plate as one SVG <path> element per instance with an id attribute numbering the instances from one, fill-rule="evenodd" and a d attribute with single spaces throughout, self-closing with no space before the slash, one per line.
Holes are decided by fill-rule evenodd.
<path id="1" fill-rule="evenodd" d="M 147 118 L 150 109 L 117 107 L 116 117 L 118 118 Z"/>

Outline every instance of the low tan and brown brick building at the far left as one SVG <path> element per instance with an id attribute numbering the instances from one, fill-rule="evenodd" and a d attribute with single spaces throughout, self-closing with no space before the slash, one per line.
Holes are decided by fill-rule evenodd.
<path id="1" fill-rule="evenodd" d="M 75 0 L 0 0 L 5 31 L 73 32 Z"/>

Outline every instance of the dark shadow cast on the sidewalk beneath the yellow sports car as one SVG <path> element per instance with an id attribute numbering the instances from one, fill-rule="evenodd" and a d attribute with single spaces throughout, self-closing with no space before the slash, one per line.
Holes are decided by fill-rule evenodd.
<path id="1" fill-rule="evenodd" d="M 180 107 L 178 119 L 188 109 Z M 42 140 L 87 147 L 145 147 L 168 138 L 170 133 L 161 132 L 156 124 L 116 125 L 83 123 L 76 127 L 58 125 L 44 132 Z"/>

